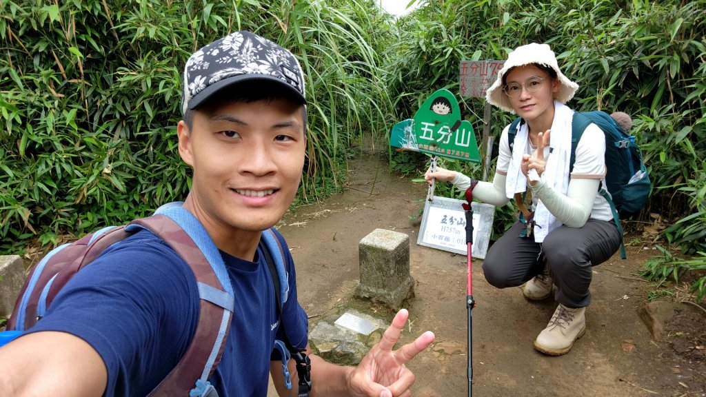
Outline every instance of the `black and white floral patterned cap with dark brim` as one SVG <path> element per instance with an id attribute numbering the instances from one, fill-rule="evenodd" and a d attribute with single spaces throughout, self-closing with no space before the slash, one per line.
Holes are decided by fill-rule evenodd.
<path id="1" fill-rule="evenodd" d="M 194 52 L 184 68 L 181 111 L 196 109 L 211 95 L 242 81 L 282 83 L 306 104 L 304 72 L 287 49 L 251 32 L 233 32 Z"/>

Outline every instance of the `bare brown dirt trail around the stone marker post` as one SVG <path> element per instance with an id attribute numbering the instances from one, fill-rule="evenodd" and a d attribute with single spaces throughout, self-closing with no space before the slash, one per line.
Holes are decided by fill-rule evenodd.
<path id="1" fill-rule="evenodd" d="M 384 158 L 376 155 L 350 167 L 344 193 L 290 211 L 280 224 L 297 263 L 299 301 L 312 316 L 311 326 L 352 295 L 364 236 L 376 228 L 406 233 L 416 296 L 408 307 L 410 332 L 402 339 L 408 342 L 426 330 L 437 336 L 408 364 L 417 375 L 413 395 L 467 396 L 465 256 L 416 244 L 419 226 L 409 215 L 423 206 L 425 184 L 389 174 Z M 482 261 L 474 260 L 474 395 L 704 396 L 706 385 L 698 383 L 703 374 L 694 377 L 685 362 L 663 362 L 669 357 L 666 345 L 654 343 L 638 317 L 650 285 L 635 273 L 646 256 L 641 246 L 628 247 L 628 260 L 616 255 L 594 268 L 587 332 L 561 357 L 532 348 L 556 303 L 527 302 L 518 288 L 492 288 Z"/>

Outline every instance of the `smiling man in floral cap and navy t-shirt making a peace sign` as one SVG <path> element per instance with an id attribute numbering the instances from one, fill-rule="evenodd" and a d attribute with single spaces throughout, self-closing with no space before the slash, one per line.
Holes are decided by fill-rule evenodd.
<path id="1" fill-rule="evenodd" d="M 292 203 L 304 167 L 303 72 L 286 49 L 235 32 L 189 58 L 182 109 L 179 154 L 193 168 L 184 208 L 220 250 L 236 298 L 210 384 L 220 397 L 266 396 L 269 371 L 281 396 L 296 396 L 296 386 L 281 386 L 281 362 L 270 361 L 280 328 L 310 351 L 294 265 L 285 246 L 291 292 L 280 316 L 258 244 Z M 0 348 L 0 396 L 144 396 L 189 346 L 198 299 L 189 266 L 156 235 L 137 232 L 80 271 L 34 328 Z M 434 336 L 393 351 L 406 320 L 400 311 L 358 367 L 312 355 L 311 396 L 410 396 L 414 375 L 404 364 Z"/>

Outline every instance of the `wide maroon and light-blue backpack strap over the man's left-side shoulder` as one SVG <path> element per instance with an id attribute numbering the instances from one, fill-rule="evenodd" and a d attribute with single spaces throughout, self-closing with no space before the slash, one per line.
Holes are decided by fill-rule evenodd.
<path id="1" fill-rule="evenodd" d="M 140 227 L 164 239 L 189 264 L 201 297 L 198 325 L 189 348 L 150 396 L 189 393 L 190 397 L 217 397 L 208 378 L 220 362 L 234 307 L 233 287 L 225 263 L 201 222 L 181 208 L 181 203 L 163 206 L 152 217 L 133 221 L 126 230 Z M 206 343 L 210 347 L 203 348 Z"/>

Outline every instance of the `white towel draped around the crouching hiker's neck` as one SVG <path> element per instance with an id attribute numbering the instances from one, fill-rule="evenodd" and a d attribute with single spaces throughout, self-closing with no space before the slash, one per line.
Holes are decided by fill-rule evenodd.
<path id="1" fill-rule="evenodd" d="M 569 160 L 571 156 L 571 121 L 573 110 L 561 102 L 554 101 L 554 120 L 551 122 L 551 135 L 549 136 L 549 155 L 546 155 L 546 167 L 542 174 L 542 182 L 553 187 L 561 194 L 566 194 L 569 184 Z M 508 166 L 508 177 L 505 180 L 505 192 L 508 198 L 513 198 L 515 193 L 527 191 L 527 177 L 522 174 L 520 162 L 522 155 L 527 151 L 527 123 L 520 123 L 513 141 L 513 158 Z M 533 235 L 535 242 L 543 242 L 544 237 L 561 226 L 561 222 L 551 215 L 541 200 L 534 212 Z"/>

